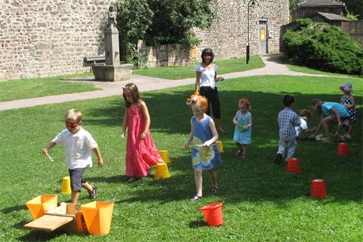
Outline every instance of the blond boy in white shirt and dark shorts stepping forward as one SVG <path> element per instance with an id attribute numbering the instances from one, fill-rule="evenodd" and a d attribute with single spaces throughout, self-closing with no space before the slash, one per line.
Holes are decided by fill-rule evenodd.
<path id="1" fill-rule="evenodd" d="M 70 109 L 64 115 L 66 129 L 59 133 L 49 144 L 42 150 L 47 155 L 49 149 L 55 145 L 64 145 L 64 153 L 71 178 L 71 203 L 77 203 L 82 187 L 89 191 L 89 198 L 96 198 L 96 185 L 89 185 L 86 180 L 82 179 L 86 167 L 92 167 L 92 151 L 98 159 L 98 166 L 102 167 L 98 145 L 91 134 L 84 130 L 82 125 L 82 113 L 77 109 Z"/>

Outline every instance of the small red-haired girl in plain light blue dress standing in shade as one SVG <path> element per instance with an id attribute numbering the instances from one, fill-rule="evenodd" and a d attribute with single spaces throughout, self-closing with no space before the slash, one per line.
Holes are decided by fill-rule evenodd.
<path id="1" fill-rule="evenodd" d="M 250 102 L 242 98 L 239 100 L 239 111 L 233 118 L 234 128 L 233 140 L 239 150 L 236 156 L 242 153 L 242 158 L 247 156 L 247 145 L 251 143 L 252 115 L 247 109 L 251 109 Z"/>

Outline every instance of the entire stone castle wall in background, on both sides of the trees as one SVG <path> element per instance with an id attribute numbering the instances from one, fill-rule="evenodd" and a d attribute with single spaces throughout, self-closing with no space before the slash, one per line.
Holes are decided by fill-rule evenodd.
<path id="1" fill-rule="evenodd" d="M 276 53 L 279 51 L 280 28 L 288 24 L 288 0 L 257 1 L 260 6 L 250 8 L 250 55 L 259 53 L 259 19 L 268 20 L 268 30 L 273 32 L 273 37 L 268 38 L 268 53 Z M 102 28 L 108 8 L 114 3 L 100 0 L 1 0 L 0 80 L 89 72 L 84 56 L 104 54 Z M 212 28 L 194 29 L 202 40 L 196 47 L 198 61 L 201 60 L 201 50 L 207 47 L 214 50 L 215 59 L 245 56 L 247 6 L 248 0 L 212 2 L 212 7 L 218 11 Z M 165 46 L 168 51 L 169 47 Z M 162 52 L 159 53 L 165 55 L 165 48 L 160 47 Z M 186 53 L 190 50 L 182 52 L 176 56 L 168 55 L 167 59 L 176 64 L 189 63 L 191 57 Z M 156 53 L 151 53 L 152 56 L 162 58 Z"/>

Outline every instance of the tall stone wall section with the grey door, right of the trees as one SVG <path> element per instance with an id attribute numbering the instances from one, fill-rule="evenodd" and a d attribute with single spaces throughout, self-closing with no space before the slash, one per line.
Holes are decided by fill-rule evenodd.
<path id="1" fill-rule="evenodd" d="M 257 0 L 258 7 L 250 7 L 250 55 L 259 54 L 259 19 L 268 20 L 268 31 L 273 32 L 268 39 L 268 53 L 279 52 L 281 26 L 288 24 L 288 0 Z M 248 43 L 248 0 L 214 1 L 218 18 L 212 28 L 194 29 L 202 39 L 196 47 L 196 59 L 201 61 L 203 48 L 212 48 L 215 59 L 244 57 Z"/>

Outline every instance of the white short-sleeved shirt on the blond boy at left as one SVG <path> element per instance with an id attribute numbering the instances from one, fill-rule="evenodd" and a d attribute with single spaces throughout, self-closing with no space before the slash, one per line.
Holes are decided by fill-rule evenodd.
<path id="1" fill-rule="evenodd" d="M 92 151 L 97 143 L 91 134 L 80 127 L 80 131 L 73 135 L 68 129 L 64 129 L 53 140 L 57 145 L 64 145 L 64 153 L 68 169 L 92 167 Z"/>

